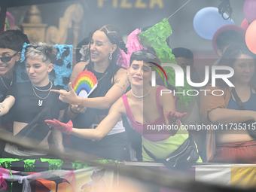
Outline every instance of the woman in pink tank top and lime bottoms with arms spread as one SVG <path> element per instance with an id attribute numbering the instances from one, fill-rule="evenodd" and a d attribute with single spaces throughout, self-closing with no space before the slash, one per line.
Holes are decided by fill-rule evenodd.
<path id="1" fill-rule="evenodd" d="M 167 90 L 166 87 L 151 87 L 151 66 L 154 66 L 151 62 L 160 64 L 154 49 L 150 47 L 132 54 L 127 69 L 127 81 L 130 81 L 132 89 L 111 106 L 108 115 L 96 129 L 75 129 L 72 121 L 67 124 L 57 120 L 46 122 L 64 133 L 100 140 L 121 116 L 126 116 L 130 118 L 134 129 L 142 135 L 142 145 L 148 151 L 160 159 L 168 157 L 188 138 L 187 130 L 179 129 L 178 118 L 185 114 L 175 112 L 175 98 L 172 94 L 161 94 L 161 90 Z M 143 161 L 153 161 L 143 148 L 142 157 Z"/>

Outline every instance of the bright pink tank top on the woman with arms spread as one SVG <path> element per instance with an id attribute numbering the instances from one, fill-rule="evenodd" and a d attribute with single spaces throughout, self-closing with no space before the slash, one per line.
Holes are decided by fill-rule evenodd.
<path id="1" fill-rule="evenodd" d="M 160 117 L 152 123 L 145 123 L 145 124 L 137 123 L 133 118 L 133 114 L 130 109 L 126 94 L 124 94 L 122 96 L 123 104 L 126 108 L 126 113 L 127 113 L 128 117 L 130 118 L 130 121 L 133 123 L 133 129 L 136 130 L 145 139 L 148 139 L 151 142 L 160 142 L 160 141 L 166 140 L 170 137 L 167 129 L 160 130 L 160 131 L 154 130 L 154 129 L 157 129 L 157 126 L 163 127 L 163 124 L 164 125 L 166 124 L 166 120 L 165 120 L 164 114 L 163 114 L 163 108 L 161 107 L 160 101 L 159 101 L 160 90 L 162 90 L 162 89 L 166 89 L 166 87 L 164 87 L 164 86 L 158 87 L 157 95 L 156 95 L 157 108 L 160 113 Z M 151 130 L 147 130 L 150 128 L 151 128 Z M 150 133 L 150 134 L 145 134 L 143 132 L 143 129 L 144 129 L 144 132 Z"/>

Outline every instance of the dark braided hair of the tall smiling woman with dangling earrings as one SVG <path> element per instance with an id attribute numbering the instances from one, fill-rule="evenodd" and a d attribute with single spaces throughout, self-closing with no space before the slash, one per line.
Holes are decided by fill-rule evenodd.
<path id="1" fill-rule="evenodd" d="M 117 45 L 117 49 L 114 50 L 114 53 L 112 54 L 112 59 L 111 59 L 111 63 L 110 63 L 111 69 L 109 69 L 109 71 L 108 71 L 108 73 L 110 74 L 109 78 L 111 80 L 111 83 L 113 84 L 114 83 L 114 65 L 120 66 L 120 63 L 117 63 L 117 55 L 119 53 L 119 41 L 120 41 L 119 30 L 117 29 L 116 26 L 106 24 L 106 25 L 97 27 L 94 30 L 94 32 L 96 32 L 96 31 L 104 32 L 105 35 L 107 36 L 108 40 L 111 41 L 112 44 Z M 93 38 L 94 32 L 90 36 L 90 41 Z M 89 56 L 90 56 L 90 44 L 89 44 Z M 93 65 L 94 65 L 94 63 L 90 59 L 90 62 L 87 65 L 87 69 L 90 69 L 90 70 L 93 69 Z"/>

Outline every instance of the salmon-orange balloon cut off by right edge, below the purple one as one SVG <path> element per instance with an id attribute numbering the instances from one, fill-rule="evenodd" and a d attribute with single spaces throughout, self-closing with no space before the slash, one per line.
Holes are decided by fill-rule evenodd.
<path id="1" fill-rule="evenodd" d="M 245 42 L 249 50 L 256 54 L 256 20 L 248 26 L 245 33 Z"/>

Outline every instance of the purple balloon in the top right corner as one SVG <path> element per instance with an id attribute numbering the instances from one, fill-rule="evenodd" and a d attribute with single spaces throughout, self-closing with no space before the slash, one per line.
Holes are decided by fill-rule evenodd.
<path id="1" fill-rule="evenodd" d="M 256 20 L 256 0 L 246 0 L 243 5 L 243 14 L 249 23 Z"/>

